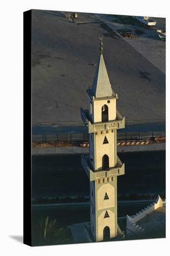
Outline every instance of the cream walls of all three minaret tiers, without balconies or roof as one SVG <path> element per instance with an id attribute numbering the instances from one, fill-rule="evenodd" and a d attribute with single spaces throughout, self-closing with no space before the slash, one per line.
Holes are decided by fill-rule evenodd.
<path id="1" fill-rule="evenodd" d="M 89 117 L 92 123 L 102 121 L 102 106 L 108 106 L 109 121 L 116 119 L 116 99 L 109 100 L 94 100 L 89 99 Z M 109 143 L 103 144 L 105 136 Z M 114 167 L 117 159 L 115 157 L 115 130 L 104 130 L 97 132 L 89 137 L 89 155 L 90 159 L 93 156 L 93 161 L 90 160 L 94 170 L 101 170 L 102 157 L 106 154 L 109 157 L 109 167 Z M 111 182 L 111 183 L 109 183 Z M 93 196 L 92 196 L 93 190 Z M 104 200 L 105 193 L 109 199 Z M 96 184 L 90 182 L 90 218 L 91 231 L 96 241 L 103 241 L 103 232 L 106 226 L 110 229 L 110 237 L 117 236 L 117 180 L 105 178 L 103 183 Z M 106 210 L 109 217 L 105 218 Z"/>

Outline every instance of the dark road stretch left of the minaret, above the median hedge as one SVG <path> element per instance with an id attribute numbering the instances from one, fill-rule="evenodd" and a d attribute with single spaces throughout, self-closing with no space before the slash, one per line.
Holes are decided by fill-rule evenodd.
<path id="1" fill-rule="evenodd" d="M 33 156 L 32 182 L 33 198 L 89 195 L 81 155 Z"/>

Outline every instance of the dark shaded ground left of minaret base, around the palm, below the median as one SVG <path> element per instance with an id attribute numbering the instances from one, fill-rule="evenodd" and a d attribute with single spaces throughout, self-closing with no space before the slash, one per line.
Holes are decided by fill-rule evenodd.
<path id="1" fill-rule="evenodd" d="M 42 239 L 42 230 L 40 228 L 40 220 L 49 216 L 49 220 L 56 219 L 56 229 L 60 230 L 59 237 L 53 235 L 50 242 Z M 32 209 L 32 235 L 33 246 L 47 244 L 66 244 L 73 243 L 71 230 L 67 228 L 70 224 L 86 222 L 90 217 L 89 207 L 73 206 L 73 207 L 33 207 Z"/>

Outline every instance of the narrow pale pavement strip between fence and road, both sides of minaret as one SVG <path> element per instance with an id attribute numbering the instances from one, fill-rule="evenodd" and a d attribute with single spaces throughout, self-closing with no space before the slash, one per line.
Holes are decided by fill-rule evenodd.
<path id="1" fill-rule="evenodd" d="M 139 152 L 165 150 L 165 143 L 154 143 L 150 145 L 118 146 L 118 152 Z M 81 147 L 59 147 L 59 148 L 32 148 L 32 155 L 58 155 L 58 154 L 81 154 L 89 153 L 89 148 Z"/>

